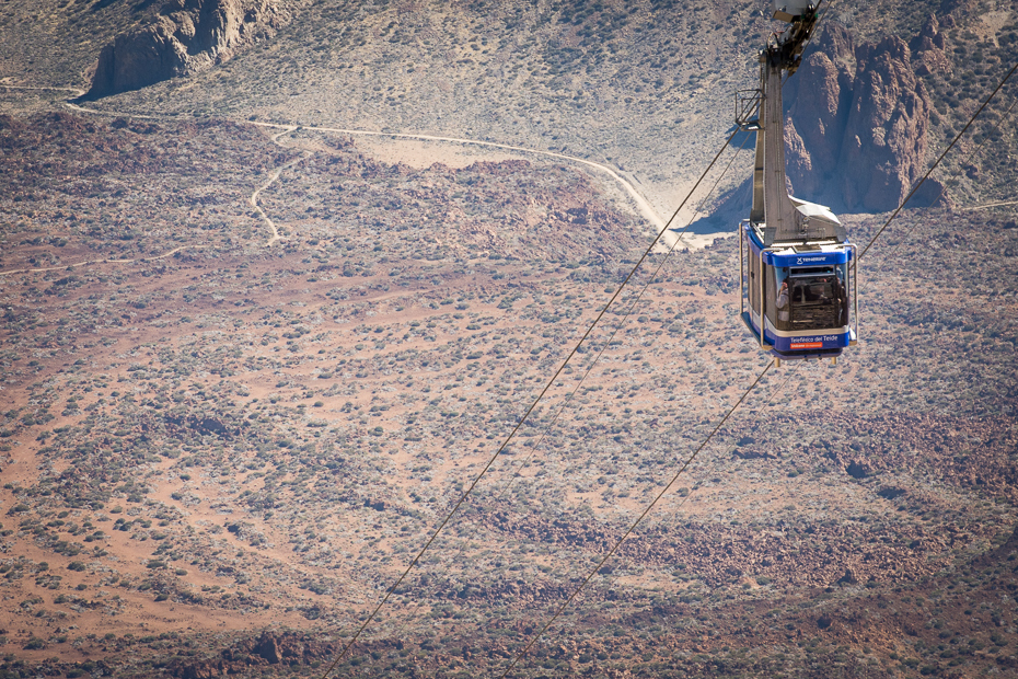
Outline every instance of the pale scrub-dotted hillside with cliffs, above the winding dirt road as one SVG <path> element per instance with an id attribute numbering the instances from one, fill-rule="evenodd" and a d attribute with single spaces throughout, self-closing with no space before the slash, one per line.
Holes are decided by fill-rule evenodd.
<path id="1" fill-rule="evenodd" d="M 198 4 L 186 5 L 186 11 L 167 5 L 169 14 L 160 14 L 154 4 L 115 2 L 93 8 L 60 28 L 67 34 L 91 31 L 91 54 L 80 46 L 73 56 L 66 48 L 56 49 L 37 56 L 32 68 L 45 61 L 61 64 L 60 72 L 67 72 L 73 58 L 81 72 L 94 68 L 105 54 L 96 71 L 96 93 L 114 91 L 117 78 L 140 83 L 154 79 L 153 73 L 162 78 L 192 72 L 103 97 L 109 110 L 254 116 L 565 151 L 635 173 L 658 211 L 670 214 L 725 138 L 732 93 L 755 85 L 753 55 L 772 28 L 764 4 L 482 2 L 453 10 L 441 4 L 331 0 L 262 3 L 261 23 L 244 23 L 236 19 L 236 3 L 229 4 L 236 8 L 232 14 L 225 12 L 227 4 L 218 13 L 210 8 L 220 5 L 200 4 L 201 12 L 220 18 L 213 21 L 200 20 L 205 14 L 195 9 Z M 811 47 L 818 49 L 817 64 L 789 81 L 795 88 L 797 79 L 810 80 L 802 91 L 819 93 L 799 104 L 802 120 L 795 122 L 795 134 L 789 130 L 797 191 L 809 197 L 819 189 L 822 200 L 843 211 L 887 209 L 1013 64 L 1018 45 L 1013 4 L 891 2 L 882 5 L 879 16 L 832 5 L 823 21 L 844 31 L 832 32 L 830 42 L 818 39 Z M 146 12 L 148 18 L 142 16 Z M 94 19 L 103 16 L 108 24 L 115 23 L 114 15 L 132 20 L 132 27 L 116 38 L 94 37 L 102 34 Z M 189 19 L 172 20 L 185 15 Z M 234 18 L 230 25 L 238 26 L 236 34 L 224 27 L 228 16 Z M 216 30 L 221 41 L 201 42 L 200 32 L 188 37 L 187 26 L 195 21 L 196 26 L 223 26 Z M 241 39 L 243 26 L 252 31 L 245 28 Z M 233 42 L 234 35 L 240 42 Z M 263 36 L 256 46 L 250 42 L 255 36 Z M 891 37 L 896 42 L 883 43 Z M 114 56 L 118 44 L 126 48 L 157 43 L 159 49 L 153 47 L 151 54 L 139 47 L 137 59 L 127 59 L 129 49 L 120 53 L 126 66 L 123 76 L 116 76 L 115 65 L 122 61 Z M 820 55 L 840 64 L 842 82 L 836 90 L 830 81 L 831 65 Z M 232 58 L 206 68 L 223 56 Z M 8 61 L 12 59 L 9 55 Z M 200 72 L 193 72 L 196 69 Z M 821 87 L 824 79 L 829 82 Z M 78 82 L 89 89 L 93 80 Z M 821 116 L 820 108 L 829 113 Z M 946 199 L 987 202 L 1006 193 L 1014 165 L 1007 159 L 1015 154 L 1016 142 L 1006 125 L 988 126 L 993 115 L 1003 112 L 994 107 L 975 130 L 993 135 L 993 143 L 971 168 L 948 163 L 938 172 L 935 179 L 948 186 Z M 882 131 L 875 136 L 875 128 Z M 961 149 L 968 150 L 971 147 Z M 870 176 L 853 170 L 856 163 L 895 170 Z M 747 153 L 722 180 L 722 188 L 740 185 L 749 166 Z M 826 173 L 837 177 L 829 180 Z M 979 180 L 969 176 L 975 173 Z M 822 187 L 818 175 L 824 177 Z M 938 193 L 936 188 L 929 193 Z"/>

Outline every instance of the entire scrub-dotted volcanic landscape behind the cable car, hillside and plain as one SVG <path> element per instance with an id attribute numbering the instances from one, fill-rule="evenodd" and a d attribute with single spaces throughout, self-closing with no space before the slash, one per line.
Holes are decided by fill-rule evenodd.
<path id="1" fill-rule="evenodd" d="M 323 0 L 216 64 L 243 36 L 198 10 L 228 4 L 0 4 L 9 85 L 86 89 L 147 26 L 186 55 L 112 115 L 0 88 L 0 676 L 324 671 L 647 244 L 562 159 L 383 162 L 400 140 L 248 118 L 566 150 L 673 207 L 770 28 L 748 1 Z M 789 82 L 795 189 L 881 209 L 1014 62 L 1016 8 L 837 7 Z M 859 262 L 859 344 L 771 369 L 520 675 L 1016 671 L 1005 94 Z M 738 260 L 648 258 L 331 676 L 505 670 L 767 365 Z"/>

